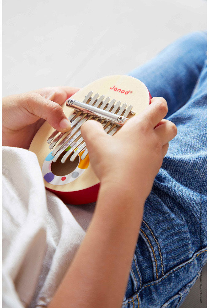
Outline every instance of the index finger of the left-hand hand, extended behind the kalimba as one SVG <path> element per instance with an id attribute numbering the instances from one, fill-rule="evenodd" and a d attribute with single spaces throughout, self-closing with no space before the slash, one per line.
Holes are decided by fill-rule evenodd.
<path id="1" fill-rule="evenodd" d="M 66 99 L 75 94 L 80 88 L 75 87 L 46 87 L 35 91 L 46 99 L 52 100 L 59 105 L 62 105 Z"/>

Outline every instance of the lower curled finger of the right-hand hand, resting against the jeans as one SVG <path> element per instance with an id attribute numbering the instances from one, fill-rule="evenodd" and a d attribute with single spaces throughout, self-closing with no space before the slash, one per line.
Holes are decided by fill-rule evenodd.
<path id="1" fill-rule="evenodd" d="M 167 144 L 171 141 L 177 134 L 177 127 L 175 124 L 169 120 L 165 120 L 163 124 L 155 128 L 155 132 L 160 137 L 162 144 Z"/>

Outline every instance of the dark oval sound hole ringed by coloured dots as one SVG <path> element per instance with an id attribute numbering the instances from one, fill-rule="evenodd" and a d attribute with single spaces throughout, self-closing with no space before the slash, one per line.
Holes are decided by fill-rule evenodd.
<path id="1" fill-rule="evenodd" d="M 74 161 L 70 161 L 70 157 L 71 157 L 71 155 L 73 155 L 74 152 L 68 157 L 68 159 L 65 161 L 65 163 L 62 164 L 61 159 L 65 155 L 65 153 L 66 152 L 63 152 L 58 157 L 58 159 L 55 163 L 52 162 L 51 171 L 54 175 L 57 175 L 57 176 L 67 175 L 67 174 L 73 172 L 73 170 L 75 170 L 75 168 L 79 164 L 79 157 L 78 156 L 76 157 L 76 159 Z"/>

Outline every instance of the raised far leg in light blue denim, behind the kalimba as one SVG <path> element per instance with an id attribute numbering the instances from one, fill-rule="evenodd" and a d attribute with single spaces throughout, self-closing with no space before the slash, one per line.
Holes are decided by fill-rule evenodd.
<path id="1" fill-rule="evenodd" d="M 190 98 L 204 65 L 206 51 L 206 33 L 191 33 L 128 75 L 140 79 L 152 97 L 162 96 L 167 100 L 168 117 Z"/>

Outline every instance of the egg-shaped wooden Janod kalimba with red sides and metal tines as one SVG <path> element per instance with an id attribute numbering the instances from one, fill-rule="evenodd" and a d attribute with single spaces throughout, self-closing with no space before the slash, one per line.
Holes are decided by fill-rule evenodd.
<path id="1" fill-rule="evenodd" d="M 62 108 L 71 122 L 69 132 L 54 131 L 45 122 L 30 145 L 29 150 L 38 157 L 45 187 L 65 203 L 96 201 L 99 180 L 89 162 L 81 125 L 90 119 L 99 121 L 112 136 L 150 100 L 144 83 L 126 75 L 98 79 L 67 99 Z"/>

